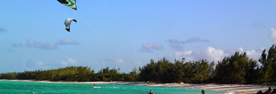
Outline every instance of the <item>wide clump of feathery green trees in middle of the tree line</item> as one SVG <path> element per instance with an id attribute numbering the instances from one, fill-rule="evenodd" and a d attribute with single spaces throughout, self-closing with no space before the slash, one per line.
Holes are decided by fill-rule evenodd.
<path id="1" fill-rule="evenodd" d="M 165 58 L 157 63 L 151 60 L 150 64 L 139 68 L 140 81 L 203 83 L 211 77 L 214 62 L 209 64 L 207 60 L 199 60 L 184 63 L 184 60 L 175 60 L 174 63 Z"/>

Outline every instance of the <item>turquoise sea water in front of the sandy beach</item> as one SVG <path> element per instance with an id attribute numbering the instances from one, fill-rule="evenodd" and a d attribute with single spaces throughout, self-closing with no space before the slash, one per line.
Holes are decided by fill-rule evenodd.
<path id="1" fill-rule="evenodd" d="M 138 85 L 80 83 L 44 83 L 0 81 L 0 94 L 148 94 L 150 89 L 155 94 L 201 94 L 199 89 L 186 89 L 180 87 L 151 87 Z M 224 94 L 222 91 L 205 90 L 206 94 Z"/>

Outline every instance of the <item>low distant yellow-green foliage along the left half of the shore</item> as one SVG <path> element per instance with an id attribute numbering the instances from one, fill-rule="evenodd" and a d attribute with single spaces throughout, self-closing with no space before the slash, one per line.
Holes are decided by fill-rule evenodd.
<path id="1" fill-rule="evenodd" d="M 24 71 L 20 73 L 2 73 L 0 79 L 35 79 L 49 81 L 137 81 L 137 70 L 129 74 L 120 73 L 119 69 L 103 68 L 94 73 L 89 67 L 66 67 L 51 70 Z"/>

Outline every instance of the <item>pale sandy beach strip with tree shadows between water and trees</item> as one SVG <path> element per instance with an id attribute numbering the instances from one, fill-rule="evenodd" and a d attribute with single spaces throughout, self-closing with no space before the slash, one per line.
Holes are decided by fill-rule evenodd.
<path id="1" fill-rule="evenodd" d="M 142 86 L 154 86 L 154 87 L 183 87 L 188 89 L 205 89 L 205 90 L 216 90 L 216 91 L 225 91 L 229 94 L 254 94 L 259 90 L 265 92 L 269 86 L 263 85 L 237 85 L 237 84 L 178 84 L 178 83 L 150 83 L 146 82 L 66 82 L 66 81 L 38 81 L 38 80 L 6 80 L 0 79 L 0 81 L 22 81 L 22 82 L 46 82 L 46 83 L 82 83 L 82 84 L 117 84 L 117 85 L 142 85 Z M 275 86 L 270 86 L 272 89 Z M 228 94 L 227 93 L 227 94 Z"/>

